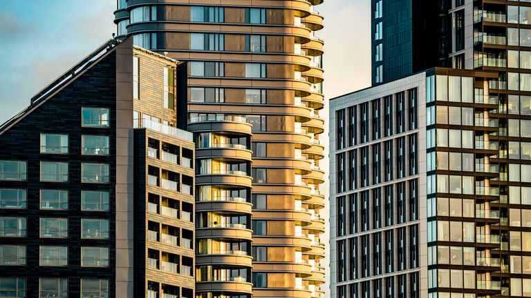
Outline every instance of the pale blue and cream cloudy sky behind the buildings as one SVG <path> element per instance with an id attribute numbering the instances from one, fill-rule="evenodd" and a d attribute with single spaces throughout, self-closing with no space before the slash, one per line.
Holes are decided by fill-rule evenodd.
<path id="1" fill-rule="evenodd" d="M 316 8 L 325 17 L 325 27 L 316 35 L 325 41 L 326 99 L 371 84 L 370 2 L 325 0 Z M 0 123 L 111 38 L 114 10 L 115 0 L 0 0 Z M 327 106 L 320 115 L 328 119 Z M 327 135 L 325 130 L 321 137 L 325 146 Z M 320 165 L 327 168 L 327 161 Z M 320 189 L 327 194 L 328 184 Z M 328 206 L 321 213 L 328 215 Z M 322 241 L 327 243 L 328 237 Z"/>

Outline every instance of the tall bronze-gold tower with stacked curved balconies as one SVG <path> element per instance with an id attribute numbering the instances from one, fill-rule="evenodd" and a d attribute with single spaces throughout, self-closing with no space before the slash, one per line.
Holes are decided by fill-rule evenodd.
<path id="1" fill-rule="evenodd" d="M 322 2 L 118 1 L 120 38 L 188 62 L 196 298 L 324 295 Z"/>

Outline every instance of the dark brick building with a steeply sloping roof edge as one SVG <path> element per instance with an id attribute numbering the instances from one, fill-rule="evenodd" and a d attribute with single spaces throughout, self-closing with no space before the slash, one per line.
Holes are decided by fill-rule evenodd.
<path id="1" fill-rule="evenodd" d="M 193 297 L 183 66 L 111 40 L 0 126 L 1 297 Z"/>

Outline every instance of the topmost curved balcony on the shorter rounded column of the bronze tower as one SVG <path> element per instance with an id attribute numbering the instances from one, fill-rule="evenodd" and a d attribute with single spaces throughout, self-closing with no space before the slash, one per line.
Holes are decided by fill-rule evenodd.
<path id="1" fill-rule="evenodd" d="M 193 105 L 189 109 L 193 110 Z M 188 130 L 191 132 L 239 132 L 252 135 L 252 125 L 247 123 L 247 119 L 232 115 L 192 117 L 188 122 Z"/>

